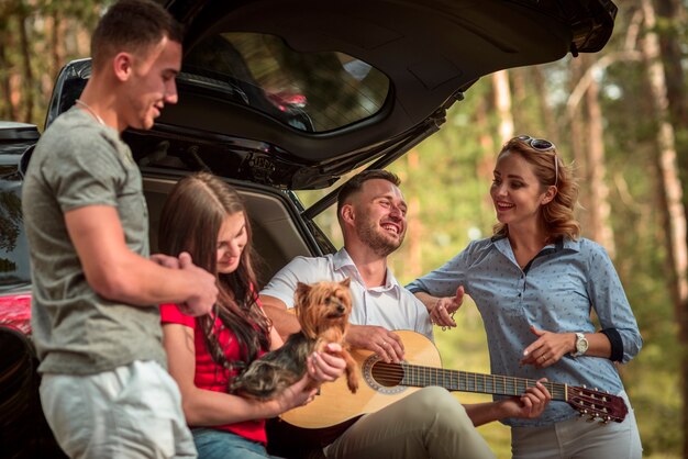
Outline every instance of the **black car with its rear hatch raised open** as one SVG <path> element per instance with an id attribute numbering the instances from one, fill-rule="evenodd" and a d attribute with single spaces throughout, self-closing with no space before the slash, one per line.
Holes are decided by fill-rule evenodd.
<path id="1" fill-rule="evenodd" d="M 313 219 L 336 189 L 308 209 L 297 191 L 388 166 L 436 133 L 482 76 L 598 52 L 617 13 L 609 0 L 159 1 L 187 26 L 179 102 L 151 131 L 123 134 L 143 175 L 151 247 L 176 181 L 210 171 L 246 201 L 262 282 L 295 256 L 334 251 Z M 75 103 L 90 70 L 88 58 L 62 69 L 44 127 Z M 0 123 L 0 425 L 12 426 L 0 428 L 0 450 L 10 457 L 55 451 L 49 430 L 35 428 L 21 215 L 38 137 L 36 126 Z"/>

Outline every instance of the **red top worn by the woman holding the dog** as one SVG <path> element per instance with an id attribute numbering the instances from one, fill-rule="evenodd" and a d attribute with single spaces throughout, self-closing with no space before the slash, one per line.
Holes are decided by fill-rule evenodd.
<path id="1" fill-rule="evenodd" d="M 181 324 L 193 328 L 193 344 L 196 346 L 196 376 L 193 377 L 193 383 L 196 387 L 208 391 L 226 393 L 228 373 L 221 366 L 214 362 L 208 352 L 203 332 L 198 326 L 198 321 L 196 321 L 195 317 L 182 314 L 176 304 L 160 304 L 160 318 L 163 324 Z M 229 329 L 222 326 L 220 318 L 215 318 L 213 332 L 218 336 L 220 346 L 225 349 L 228 360 L 240 360 L 236 339 L 230 340 L 230 336 L 232 336 L 232 338 L 234 338 L 234 336 L 230 334 Z M 265 352 L 260 351 L 260 355 L 263 354 Z M 230 373 L 231 377 L 234 377 L 236 372 L 236 370 L 233 370 Z M 242 423 L 212 426 L 211 428 L 229 430 L 253 441 L 267 443 L 265 419 L 244 421 Z"/>

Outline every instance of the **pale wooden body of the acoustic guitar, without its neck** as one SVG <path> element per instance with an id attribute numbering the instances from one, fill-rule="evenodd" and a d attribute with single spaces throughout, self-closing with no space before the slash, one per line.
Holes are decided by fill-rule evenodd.
<path id="1" fill-rule="evenodd" d="M 395 332 L 401 337 L 406 351 L 406 361 L 428 367 L 442 367 L 440 351 L 424 335 L 410 331 Z M 358 391 L 352 394 L 346 387 L 346 378 L 321 385 L 320 394 L 306 406 L 290 410 L 280 417 L 282 421 L 302 428 L 321 428 L 346 425 L 362 414 L 374 413 L 403 399 L 420 388 L 397 385 L 389 378 L 374 373 L 373 366 L 377 355 L 368 350 L 352 350 L 358 363 L 362 380 Z M 386 384 L 386 385 L 384 385 Z M 393 384 L 390 387 L 390 384 Z"/>

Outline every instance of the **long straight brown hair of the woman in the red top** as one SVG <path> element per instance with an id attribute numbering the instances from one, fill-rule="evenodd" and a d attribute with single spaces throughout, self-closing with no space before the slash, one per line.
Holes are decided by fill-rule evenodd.
<path id="1" fill-rule="evenodd" d="M 246 221 L 246 245 L 234 272 L 218 272 L 218 235 L 224 220 L 243 213 Z M 270 322 L 256 303 L 251 222 L 240 194 L 218 177 L 199 172 L 186 177 L 167 197 L 158 229 L 159 250 L 171 256 L 182 251 L 191 255 L 193 264 L 215 273 L 220 294 L 213 313 L 198 317 L 206 345 L 213 360 L 232 370 L 251 363 L 258 352 L 270 347 Z M 228 361 L 215 336 L 214 318 L 232 332 L 240 347 L 240 361 Z"/>

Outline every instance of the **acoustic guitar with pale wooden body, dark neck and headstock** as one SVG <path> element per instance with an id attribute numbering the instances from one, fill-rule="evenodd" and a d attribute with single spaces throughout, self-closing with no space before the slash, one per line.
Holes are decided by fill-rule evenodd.
<path id="1" fill-rule="evenodd" d="M 339 378 L 322 384 L 313 402 L 284 413 L 281 421 L 299 428 L 336 432 L 341 430 L 336 427 L 346 428 L 360 415 L 384 408 L 428 385 L 459 392 L 521 395 L 536 383 L 533 379 L 443 369 L 437 348 L 424 335 L 410 331 L 395 333 L 403 343 L 404 362 L 386 363 L 371 351 L 352 350 L 362 372 L 358 391 L 352 394 L 346 379 Z M 628 413 L 624 400 L 617 395 L 557 382 L 544 385 L 553 401 L 566 402 L 592 421 L 620 423 Z"/>

